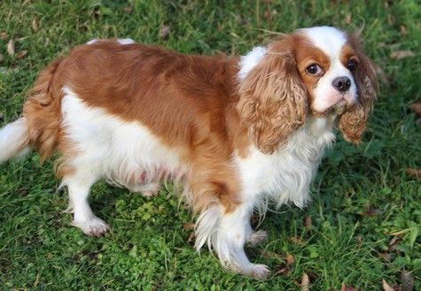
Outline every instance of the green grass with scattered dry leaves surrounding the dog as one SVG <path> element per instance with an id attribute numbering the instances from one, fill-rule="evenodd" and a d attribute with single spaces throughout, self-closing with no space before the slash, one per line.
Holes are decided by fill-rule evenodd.
<path id="1" fill-rule="evenodd" d="M 269 11 L 269 12 L 268 12 Z M 0 165 L 0 289 L 295 290 L 303 272 L 312 290 L 378 290 L 410 272 L 421 289 L 420 129 L 409 104 L 421 99 L 421 6 L 406 1 L 23 1 L 0 4 L 0 112 L 16 119 L 36 73 L 95 37 L 131 37 L 183 52 L 241 54 L 269 39 L 267 30 L 334 25 L 363 27 L 381 67 L 381 93 L 360 147 L 339 138 L 324 158 L 304 211 L 269 211 L 269 239 L 250 249 L 269 264 L 259 281 L 222 270 L 189 243 L 191 211 L 171 187 L 147 200 L 99 183 L 94 211 L 111 225 L 102 238 L 70 227 L 66 195 L 52 163 L 36 155 Z M 162 27 L 168 26 L 165 35 Z M 164 29 L 165 30 L 165 29 Z M 15 55 L 6 44 L 15 41 Z M 396 59 L 396 51 L 415 56 Z M 27 51 L 27 53 L 25 53 Z M 311 219 L 311 221 L 310 221 Z M 293 258 L 293 263 L 292 262 Z M 276 273 L 277 272 L 277 273 Z"/>

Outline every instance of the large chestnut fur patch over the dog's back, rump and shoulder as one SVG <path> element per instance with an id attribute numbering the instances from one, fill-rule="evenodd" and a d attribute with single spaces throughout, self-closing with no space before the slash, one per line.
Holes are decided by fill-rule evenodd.
<path id="1" fill-rule="evenodd" d="M 213 203 L 231 211 L 240 192 L 231 157 L 234 149 L 244 152 L 249 145 L 234 108 L 237 62 L 142 44 L 82 45 L 36 81 L 24 111 L 31 140 L 43 159 L 55 148 L 62 153 L 58 176 L 74 171 L 69 161 L 77 152 L 60 128 L 60 89 L 67 86 L 88 105 L 140 121 L 161 142 L 178 149 L 190 166 L 187 184 L 195 211 Z"/>

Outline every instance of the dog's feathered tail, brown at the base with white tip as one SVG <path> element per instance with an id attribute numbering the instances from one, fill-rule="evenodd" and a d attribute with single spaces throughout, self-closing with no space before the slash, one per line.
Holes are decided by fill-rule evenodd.
<path id="1" fill-rule="evenodd" d="M 28 92 L 23 117 L 0 129 L 0 164 L 35 148 L 41 162 L 51 155 L 58 142 L 61 91 L 54 75 L 61 59 L 48 65 Z"/>

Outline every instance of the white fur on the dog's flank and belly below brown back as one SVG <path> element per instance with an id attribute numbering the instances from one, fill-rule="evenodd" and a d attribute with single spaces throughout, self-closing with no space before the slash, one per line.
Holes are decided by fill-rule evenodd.
<path id="1" fill-rule="evenodd" d="M 76 149 L 71 163 L 86 164 L 98 178 L 132 190 L 183 177 L 180 152 L 165 146 L 142 123 L 88 107 L 69 88 L 64 92 L 62 126 Z"/>

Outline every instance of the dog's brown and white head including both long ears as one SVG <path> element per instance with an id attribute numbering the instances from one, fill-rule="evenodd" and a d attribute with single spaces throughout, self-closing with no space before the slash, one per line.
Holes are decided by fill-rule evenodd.
<path id="1" fill-rule="evenodd" d="M 348 142 L 361 140 L 377 80 L 358 37 L 334 27 L 303 28 L 242 58 L 238 112 L 258 149 L 272 153 L 309 114 L 339 114 Z"/>

